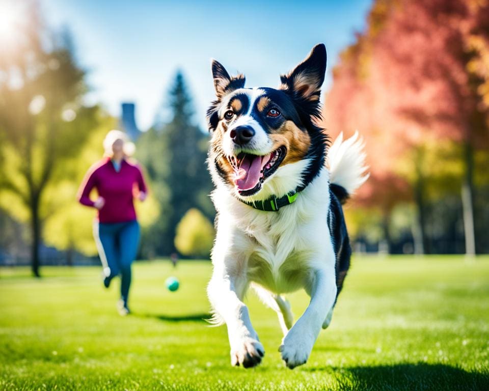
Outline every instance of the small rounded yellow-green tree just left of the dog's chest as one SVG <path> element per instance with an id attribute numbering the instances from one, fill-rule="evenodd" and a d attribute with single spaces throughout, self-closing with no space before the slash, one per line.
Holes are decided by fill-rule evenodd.
<path id="1" fill-rule="evenodd" d="M 189 257 L 209 257 L 214 227 L 198 209 L 189 209 L 177 225 L 175 247 Z"/>

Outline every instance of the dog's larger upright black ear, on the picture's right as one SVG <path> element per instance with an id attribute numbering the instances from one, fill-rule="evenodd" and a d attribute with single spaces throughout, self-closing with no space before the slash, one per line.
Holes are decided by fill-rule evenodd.
<path id="1" fill-rule="evenodd" d="M 326 72 L 326 47 L 323 43 L 314 46 L 308 57 L 286 75 L 281 75 L 281 90 L 295 99 L 319 101 L 321 86 Z"/>

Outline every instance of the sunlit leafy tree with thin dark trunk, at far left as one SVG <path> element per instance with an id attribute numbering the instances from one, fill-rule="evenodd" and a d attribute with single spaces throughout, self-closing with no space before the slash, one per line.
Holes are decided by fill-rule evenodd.
<path id="1" fill-rule="evenodd" d="M 29 211 L 32 271 L 39 276 L 45 189 L 90 133 L 76 119 L 96 110 L 80 103 L 85 73 L 69 35 L 48 31 L 37 3 L 28 5 L 17 45 L 0 47 L 0 191 L 3 203 L 15 200 Z"/>

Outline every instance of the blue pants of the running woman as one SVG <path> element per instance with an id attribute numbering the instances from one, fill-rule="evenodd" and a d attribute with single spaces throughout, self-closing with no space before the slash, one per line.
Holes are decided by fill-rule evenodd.
<path id="1" fill-rule="evenodd" d="M 131 263 L 138 253 L 140 239 L 138 221 L 95 221 L 93 235 L 105 278 L 110 282 L 116 275 L 121 275 L 121 299 L 127 304 L 131 285 Z"/>

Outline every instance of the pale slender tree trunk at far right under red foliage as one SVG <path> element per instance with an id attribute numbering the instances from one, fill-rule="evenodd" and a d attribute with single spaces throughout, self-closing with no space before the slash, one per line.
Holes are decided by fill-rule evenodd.
<path id="1" fill-rule="evenodd" d="M 475 255 L 474 230 L 474 151 L 469 142 L 464 146 L 465 179 L 462 183 L 462 209 L 464 214 L 465 254 Z"/>

